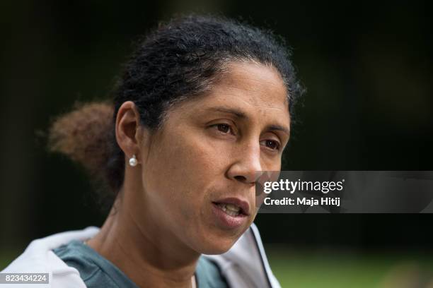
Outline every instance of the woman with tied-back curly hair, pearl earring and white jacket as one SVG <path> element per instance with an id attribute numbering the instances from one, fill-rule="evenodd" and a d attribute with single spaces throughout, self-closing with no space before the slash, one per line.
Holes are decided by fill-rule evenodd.
<path id="1" fill-rule="evenodd" d="M 270 32 L 209 16 L 160 25 L 114 105 L 51 129 L 52 149 L 111 192 L 103 227 L 35 240 L 4 272 L 48 272 L 51 287 L 279 287 L 253 225 L 255 181 L 281 169 L 300 94 Z"/>

